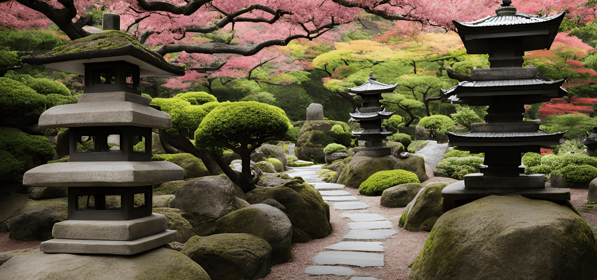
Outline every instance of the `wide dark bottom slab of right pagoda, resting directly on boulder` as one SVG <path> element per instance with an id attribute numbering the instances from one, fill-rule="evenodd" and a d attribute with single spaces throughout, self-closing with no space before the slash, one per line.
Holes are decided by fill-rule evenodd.
<path id="1" fill-rule="evenodd" d="M 522 189 L 516 187 L 465 187 L 464 181 L 449 184 L 442 190 L 444 198 L 444 211 L 460 207 L 479 198 L 490 195 L 522 195 L 525 198 L 542 199 L 557 204 L 567 204 L 570 200 L 570 191 L 556 188 Z"/>

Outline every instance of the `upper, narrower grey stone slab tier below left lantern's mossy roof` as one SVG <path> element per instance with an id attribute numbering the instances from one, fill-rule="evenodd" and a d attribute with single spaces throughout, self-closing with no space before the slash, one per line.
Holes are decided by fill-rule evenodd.
<path id="1" fill-rule="evenodd" d="M 172 127 L 167 113 L 128 101 L 64 104 L 51 107 L 39 116 L 39 128 L 99 127 L 134 125 L 136 127 Z"/>

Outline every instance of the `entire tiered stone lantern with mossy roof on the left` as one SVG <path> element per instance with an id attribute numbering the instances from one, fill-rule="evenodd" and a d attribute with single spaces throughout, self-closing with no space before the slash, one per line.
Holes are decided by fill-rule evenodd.
<path id="1" fill-rule="evenodd" d="M 104 24 L 114 26 L 104 29 L 115 30 L 23 58 L 85 76 L 78 103 L 51 107 L 39 117 L 40 128 L 69 128 L 70 161 L 41 165 L 23 176 L 29 186 L 68 187 L 68 220 L 54 224 L 54 239 L 41 244 L 45 253 L 130 255 L 176 241 L 166 218 L 152 213 L 152 184 L 183 179 L 178 165 L 152 161 L 152 128 L 170 128 L 171 117 L 149 107 L 139 82 L 144 76 L 183 75 L 184 67 L 121 32 L 114 14 L 106 17 L 111 20 Z M 119 144 L 109 144 L 108 137 Z"/>

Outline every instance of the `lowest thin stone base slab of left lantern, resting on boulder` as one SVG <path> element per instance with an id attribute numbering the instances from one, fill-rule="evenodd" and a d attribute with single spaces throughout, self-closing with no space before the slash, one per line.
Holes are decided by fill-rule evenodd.
<path id="1" fill-rule="evenodd" d="M 131 241 L 54 238 L 42 242 L 40 249 L 44 253 L 132 255 L 174 241 L 176 241 L 176 230 L 167 229 L 164 232 Z"/>

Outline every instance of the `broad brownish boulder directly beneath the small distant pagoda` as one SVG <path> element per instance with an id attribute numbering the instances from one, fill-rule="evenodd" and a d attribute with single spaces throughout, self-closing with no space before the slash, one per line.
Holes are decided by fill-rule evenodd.
<path id="1" fill-rule="evenodd" d="M 404 158 L 395 156 L 353 156 L 338 176 L 337 183 L 357 189 L 361 183 L 378 171 L 402 169 L 417 175 L 419 181 L 427 180 L 425 161 L 417 155 L 408 153 Z"/>

